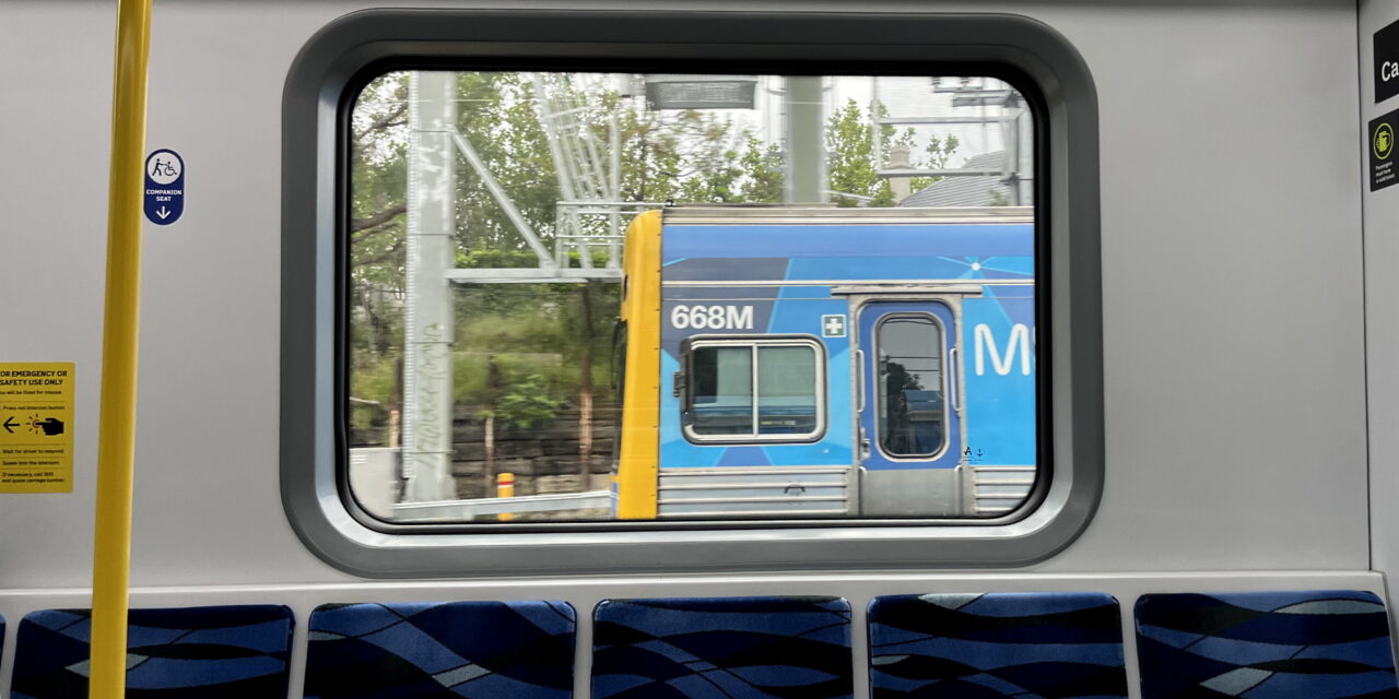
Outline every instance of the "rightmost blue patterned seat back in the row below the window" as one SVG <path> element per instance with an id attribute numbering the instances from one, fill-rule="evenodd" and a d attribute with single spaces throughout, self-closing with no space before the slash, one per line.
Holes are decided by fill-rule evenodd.
<path id="1" fill-rule="evenodd" d="M 1136 605 L 1146 699 L 1395 699 L 1371 593 L 1147 594 Z"/>

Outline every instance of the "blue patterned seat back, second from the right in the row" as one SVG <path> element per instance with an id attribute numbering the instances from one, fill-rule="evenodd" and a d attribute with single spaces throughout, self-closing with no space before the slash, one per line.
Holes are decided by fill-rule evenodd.
<path id="1" fill-rule="evenodd" d="M 1128 696 L 1122 611 L 1108 594 L 880 597 L 869 624 L 876 699 Z"/>

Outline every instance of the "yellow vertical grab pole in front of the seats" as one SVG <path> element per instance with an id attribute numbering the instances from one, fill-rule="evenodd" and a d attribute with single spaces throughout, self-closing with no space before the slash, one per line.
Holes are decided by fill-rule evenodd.
<path id="1" fill-rule="evenodd" d="M 132 470 L 136 456 L 136 348 L 141 299 L 141 187 L 145 63 L 151 0 L 116 3 L 112 180 L 106 214 L 106 310 L 102 414 L 97 443 L 92 551 L 92 663 L 88 696 L 126 696 L 126 597 L 132 566 Z"/>

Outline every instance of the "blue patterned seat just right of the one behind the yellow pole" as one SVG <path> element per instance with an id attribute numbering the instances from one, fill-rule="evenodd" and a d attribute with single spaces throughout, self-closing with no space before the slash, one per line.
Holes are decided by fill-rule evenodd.
<path id="1" fill-rule="evenodd" d="M 311 614 L 306 699 L 567 699 L 568 603 L 327 604 Z"/>

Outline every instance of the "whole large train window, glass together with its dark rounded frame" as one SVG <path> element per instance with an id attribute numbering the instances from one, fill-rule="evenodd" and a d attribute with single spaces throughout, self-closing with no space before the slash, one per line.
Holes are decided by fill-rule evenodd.
<path id="1" fill-rule="evenodd" d="M 285 94 L 283 489 L 341 568 L 1028 561 L 1091 514 L 1095 102 L 1052 31 L 385 10 Z"/>

